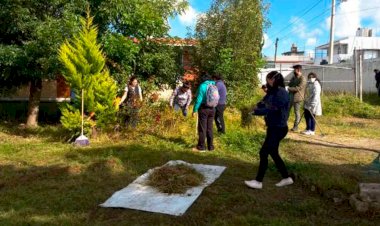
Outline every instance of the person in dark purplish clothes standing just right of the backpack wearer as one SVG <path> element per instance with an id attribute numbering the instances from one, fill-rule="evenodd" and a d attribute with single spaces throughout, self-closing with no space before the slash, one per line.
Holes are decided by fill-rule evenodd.
<path id="1" fill-rule="evenodd" d="M 226 109 L 227 88 L 220 74 L 215 74 L 212 78 L 214 79 L 219 92 L 219 102 L 215 108 L 215 124 L 218 132 L 224 134 L 226 133 L 226 126 L 224 124 L 224 110 Z"/>

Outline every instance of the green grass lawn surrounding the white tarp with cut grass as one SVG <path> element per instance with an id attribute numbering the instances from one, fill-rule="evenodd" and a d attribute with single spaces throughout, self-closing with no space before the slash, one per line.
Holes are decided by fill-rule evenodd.
<path id="1" fill-rule="evenodd" d="M 373 105 L 378 110 L 378 106 Z M 243 181 L 255 176 L 264 139 L 263 120 L 240 126 L 240 113 L 227 112 L 227 134 L 216 135 L 216 151 L 193 153 L 195 119 L 166 112 L 156 124 L 136 131 L 99 134 L 91 145 L 64 142 L 59 126 L 25 130 L 0 125 L 0 225 L 377 225 L 376 213 L 357 214 L 347 198 L 359 182 L 380 182 L 366 173 L 374 152 L 285 139 L 281 154 L 294 185 L 270 162 L 263 190 Z M 292 119 L 290 119 L 290 122 Z M 379 119 L 328 115 L 320 118 L 328 136 L 379 137 Z M 169 160 L 226 166 L 226 171 L 182 217 L 98 205 L 148 169 Z"/>

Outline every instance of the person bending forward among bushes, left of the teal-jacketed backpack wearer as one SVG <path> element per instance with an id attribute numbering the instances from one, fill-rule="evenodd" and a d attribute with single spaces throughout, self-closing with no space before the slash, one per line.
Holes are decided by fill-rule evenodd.
<path id="1" fill-rule="evenodd" d="M 191 103 L 191 89 L 188 83 L 184 83 L 181 87 L 177 87 L 170 97 L 169 105 L 174 107 L 175 111 L 182 110 L 183 116 L 187 116 L 187 109 Z"/>

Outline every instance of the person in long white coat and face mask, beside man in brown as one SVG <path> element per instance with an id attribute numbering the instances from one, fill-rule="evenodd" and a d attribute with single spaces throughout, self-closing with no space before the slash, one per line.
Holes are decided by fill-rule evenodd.
<path id="1" fill-rule="evenodd" d="M 322 115 L 321 104 L 321 82 L 314 72 L 309 73 L 306 98 L 304 105 L 306 130 L 302 133 L 305 135 L 315 135 L 315 116 Z"/>

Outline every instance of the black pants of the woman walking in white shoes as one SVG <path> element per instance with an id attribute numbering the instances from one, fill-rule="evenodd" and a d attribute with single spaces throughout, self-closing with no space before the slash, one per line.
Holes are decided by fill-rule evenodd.
<path id="1" fill-rule="evenodd" d="M 267 136 L 260 150 L 260 166 L 257 172 L 256 180 L 262 182 L 264 179 L 265 171 L 268 168 L 268 156 L 270 155 L 276 164 L 278 171 L 281 173 L 282 178 L 289 177 L 288 171 L 284 161 L 282 161 L 278 147 L 280 141 L 284 139 L 288 133 L 288 127 L 268 127 Z"/>

